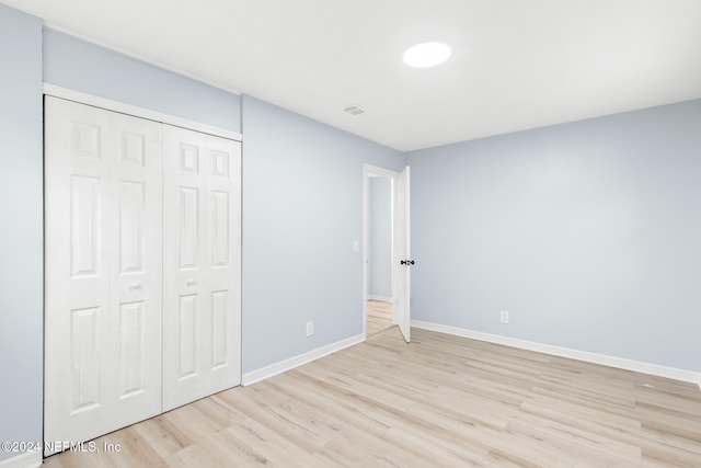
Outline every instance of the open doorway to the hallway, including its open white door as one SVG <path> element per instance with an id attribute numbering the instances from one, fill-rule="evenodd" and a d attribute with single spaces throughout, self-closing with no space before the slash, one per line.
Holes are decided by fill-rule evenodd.
<path id="1" fill-rule="evenodd" d="M 365 164 L 363 194 L 365 338 L 397 324 L 409 342 L 409 168 Z"/>

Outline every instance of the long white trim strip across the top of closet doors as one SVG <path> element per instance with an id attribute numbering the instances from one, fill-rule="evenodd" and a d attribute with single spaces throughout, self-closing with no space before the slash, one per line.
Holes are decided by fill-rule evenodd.
<path id="1" fill-rule="evenodd" d="M 106 111 L 113 111 L 120 114 L 133 115 L 139 118 L 146 118 L 148 121 L 160 122 L 162 124 L 173 125 L 175 127 L 187 128 L 207 135 L 214 135 L 235 141 L 243 141 L 243 136 L 235 132 L 200 124 L 197 122 L 180 118 L 170 114 L 163 114 L 162 112 L 151 111 L 149 109 L 139 107 L 131 104 L 125 104 L 123 102 L 113 101 L 111 99 L 100 98 L 96 95 L 71 90 L 69 88 L 58 87 L 51 83 L 44 83 L 44 94 L 53 95 L 54 98 L 61 98 L 80 104 L 92 105 L 93 107 L 101 107 Z"/>

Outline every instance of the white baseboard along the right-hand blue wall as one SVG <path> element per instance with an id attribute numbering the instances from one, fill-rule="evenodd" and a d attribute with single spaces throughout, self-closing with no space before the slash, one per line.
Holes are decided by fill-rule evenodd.
<path id="1" fill-rule="evenodd" d="M 609 367 L 617 367 L 625 370 L 633 370 L 641 374 L 650 374 L 658 377 L 671 378 L 675 380 L 689 381 L 696 384 L 701 389 L 701 373 L 692 370 L 678 369 L 675 367 L 660 366 L 658 364 L 643 363 L 640 361 L 625 359 L 622 357 L 607 356 L 605 354 L 589 353 L 587 351 L 577 351 L 568 347 L 553 346 L 550 344 L 536 343 L 532 341 L 518 340 L 498 334 L 484 333 L 480 331 L 468 330 L 458 327 L 443 326 L 438 323 L 412 320 L 412 327 L 437 331 L 457 336 L 470 338 L 473 340 L 486 341 L 495 344 L 503 344 L 521 350 L 536 351 L 539 353 L 552 354 L 554 356 L 568 357 L 572 359 L 584 361 L 593 364 L 600 364 Z"/>

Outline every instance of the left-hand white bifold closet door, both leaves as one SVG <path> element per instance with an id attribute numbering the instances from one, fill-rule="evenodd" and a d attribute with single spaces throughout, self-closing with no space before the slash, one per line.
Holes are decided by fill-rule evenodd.
<path id="1" fill-rule="evenodd" d="M 79 442 L 161 412 L 162 126 L 47 96 L 45 127 L 44 437 Z"/>

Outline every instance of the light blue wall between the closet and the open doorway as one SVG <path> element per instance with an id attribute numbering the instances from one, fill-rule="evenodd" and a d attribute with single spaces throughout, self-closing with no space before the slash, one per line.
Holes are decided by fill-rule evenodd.
<path id="1" fill-rule="evenodd" d="M 363 163 L 404 158 L 248 95 L 243 134 L 248 373 L 363 333 Z"/>

